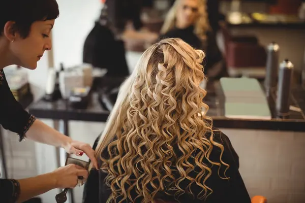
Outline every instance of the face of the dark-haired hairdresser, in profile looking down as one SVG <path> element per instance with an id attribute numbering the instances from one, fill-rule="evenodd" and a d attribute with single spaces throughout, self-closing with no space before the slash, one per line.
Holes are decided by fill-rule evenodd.
<path id="1" fill-rule="evenodd" d="M 16 32 L 14 41 L 10 45 L 16 64 L 31 70 L 36 69 L 37 61 L 40 60 L 46 50 L 52 48 L 50 34 L 54 21 L 34 22 L 25 39 Z"/>

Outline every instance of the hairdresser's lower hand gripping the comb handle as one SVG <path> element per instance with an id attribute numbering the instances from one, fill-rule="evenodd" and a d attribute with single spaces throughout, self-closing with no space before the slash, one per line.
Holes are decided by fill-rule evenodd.
<path id="1" fill-rule="evenodd" d="M 59 167 L 57 170 L 52 172 L 51 175 L 55 181 L 56 188 L 74 188 L 77 185 L 78 176 L 84 177 L 83 181 L 87 180 L 88 171 L 78 165 L 69 164 Z"/>

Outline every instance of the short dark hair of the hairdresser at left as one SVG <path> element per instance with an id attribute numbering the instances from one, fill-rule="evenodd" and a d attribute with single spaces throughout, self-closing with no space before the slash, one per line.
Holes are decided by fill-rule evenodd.
<path id="1" fill-rule="evenodd" d="M 35 21 L 53 20 L 59 16 L 56 0 L 0 0 L 0 36 L 8 21 L 26 38 Z"/>

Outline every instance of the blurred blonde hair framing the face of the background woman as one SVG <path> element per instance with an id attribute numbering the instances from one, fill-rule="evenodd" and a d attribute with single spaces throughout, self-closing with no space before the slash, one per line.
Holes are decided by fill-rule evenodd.
<path id="1" fill-rule="evenodd" d="M 197 0 L 198 2 L 198 17 L 194 25 L 194 33 L 200 40 L 206 39 L 206 31 L 210 29 L 208 22 L 208 15 L 206 11 L 206 0 Z M 161 28 L 161 33 L 165 34 L 172 30 L 176 24 L 176 13 L 178 7 L 181 4 L 181 0 L 176 0 L 173 6 L 168 11 L 163 26 Z"/>

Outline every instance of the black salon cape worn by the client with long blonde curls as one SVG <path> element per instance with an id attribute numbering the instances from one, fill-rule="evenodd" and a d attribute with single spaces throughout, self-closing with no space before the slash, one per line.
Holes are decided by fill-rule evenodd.
<path id="1" fill-rule="evenodd" d="M 210 202 L 210 203 L 223 203 L 223 202 L 243 202 L 243 203 L 250 203 L 251 199 L 248 194 L 248 191 L 246 189 L 245 184 L 243 183 L 243 180 L 239 174 L 238 167 L 239 167 L 239 161 L 238 156 L 233 149 L 231 142 L 229 138 L 223 134 L 221 131 L 214 129 L 215 137 L 214 140 L 218 143 L 221 143 L 224 146 L 224 154 L 222 160 L 230 165 L 228 171 L 226 172 L 226 176 L 230 177 L 230 180 L 223 180 L 218 176 L 218 166 L 212 166 L 212 175 L 207 179 L 206 185 L 210 187 L 213 190 L 213 193 L 209 195 L 206 199 L 200 200 L 197 198 L 193 198 L 192 195 L 184 194 L 181 195 L 178 200 L 179 202 Z M 206 137 L 209 137 L 207 135 Z M 97 139 L 94 149 L 97 147 L 97 142 L 99 138 Z M 181 156 L 181 152 L 178 150 L 177 147 L 175 148 L 175 153 L 177 156 Z M 106 152 L 106 151 L 105 151 Z M 104 153 L 105 153 L 104 152 Z M 106 154 L 107 155 L 107 152 Z M 220 156 L 220 150 L 219 148 L 215 147 L 212 150 L 212 153 L 210 154 L 209 158 L 211 160 L 219 160 Z M 192 163 L 194 164 L 194 163 Z M 194 164 L 195 165 L 195 164 Z M 199 169 L 196 167 L 195 171 L 198 171 Z M 179 174 L 175 174 L 175 176 L 178 178 Z M 190 176 L 195 177 L 196 173 L 191 172 Z M 83 203 L 105 203 L 111 194 L 111 191 L 108 186 L 104 183 L 104 179 L 106 177 L 105 173 L 92 170 L 90 172 L 90 175 L 88 177 L 88 180 L 84 187 L 84 193 L 83 193 Z M 180 184 L 181 188 L 186 188 L 187 183 L 182 182 Z M 201 188 L 197 185 L 192 186 L 192 191 L 195 195 L 201 191 Z M 136 196 L 135 191 L 131 192 L 132 197 L 134 198 Z M 158 194 L 158 198 L 164 200 L 164 201 L 174 201 L 173 195 L 166 195 L 165 193 Z M 128 202 L 128 201 L 124 201 Z M 140 202 L 140 198 L 137 199 L 136 202 Z"/>

